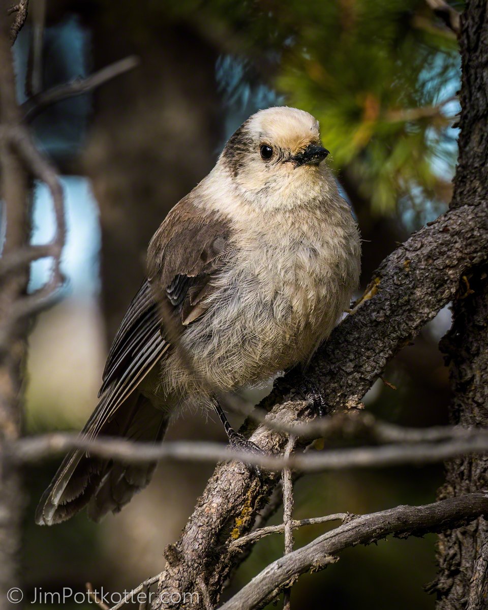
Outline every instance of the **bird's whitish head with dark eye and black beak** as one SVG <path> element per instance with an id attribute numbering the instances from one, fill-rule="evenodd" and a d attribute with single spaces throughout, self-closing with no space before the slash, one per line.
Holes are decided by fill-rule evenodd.
<path id="1" fill-rule="evenodd" d="M 295 207 L 335 188 L 318 121 L 289 107 L 260 110 L 229 138 L 220 164 L 241 195 L 263 208 Z"/>

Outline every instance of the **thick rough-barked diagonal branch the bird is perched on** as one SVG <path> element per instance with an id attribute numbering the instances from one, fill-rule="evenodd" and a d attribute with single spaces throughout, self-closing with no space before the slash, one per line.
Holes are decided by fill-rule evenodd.
<path id="1" fill-rule="evenodd" d="M 453 298 L 462 274 L 486 260 L 488 203 L 476 203 L 449 210 L 384 260 L 362 303 L 318 350 L 305 378 L 293 371 L 276 382 L 261 405 L 270 411 L 270 422 L 283 427 L 310 420 L 310 409 L 296 390 L 303 382 L 321 392 L 331 413 L 359 404 L 387 362 Z M 248 422 L 243 432 L 249 427 L 254 426 Z M 285 437 L 263 425 L 251 440 L 266 453 L 284 451 Z M 203 574 L 216 600 L 239 562 L 236 551 L 223 550 L 224 545 L 249 532 L 277 481 L 275 475 L 253 478 L 237 462 L 218 465 L 175 545 L 178 561 L 162 573 L 160 594 L 169 598 L 174 591 L 192 590 L 196 575 Z M 152 607 L 168 605 L 159 596 Z"/>

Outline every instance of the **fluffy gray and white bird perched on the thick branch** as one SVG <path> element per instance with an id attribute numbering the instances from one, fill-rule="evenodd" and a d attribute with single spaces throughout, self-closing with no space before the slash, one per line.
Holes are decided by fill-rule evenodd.
<path id="1" fill-rule="evenodd" d="M 231 135 L 215 167 L 167 214 L 147 276 L 113 340 L 82 434 L 157 443 L 175 414 L 306 366 L 350 306 L 361 240 L 326 161 L 318 121 L 271 107 Z M 53 525 L 99 521 L 149 483 L 155 464 L 71 451 L 38 504 Z"/>

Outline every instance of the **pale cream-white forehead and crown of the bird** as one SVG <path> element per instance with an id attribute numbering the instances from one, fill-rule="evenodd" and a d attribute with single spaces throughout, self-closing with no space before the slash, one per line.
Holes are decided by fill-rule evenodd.
<path id="1" fill-rule="evenodd" d="M 320 138 L 315 117 L 304 110 L 287 106 L 260 110 L 249 118 L 248 129 L 255 137 L 291 149 Z"/>

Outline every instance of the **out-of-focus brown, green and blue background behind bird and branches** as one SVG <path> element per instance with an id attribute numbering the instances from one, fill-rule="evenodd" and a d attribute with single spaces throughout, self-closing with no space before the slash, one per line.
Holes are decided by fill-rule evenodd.
<path id="1" fill-rule="evenodd" d="M 287 104 L 320 121 L 329 162 L 361 227 L 362 288 L 398 242 L 448 206 L 458 47 L 425 0 L 30 4 L 13 49 L 20 102 L 130 54 L 140 63 L 32 122 L 63 174 L 69 281 L 64 300 L 38 318 L 30 337 L 26 434 L 85 423 L 107 348 L 143 279 L 152 233 L 256 110 Z M 36 187 L 35 243 L 52 234 L 50 206 L 45 188 Z M 32 286 L 48 270 L 49 261 L 35 263 Z M 396 389 L 377 382 L 365 398 L 368 409 L 403 425 L 446 423 L 450 395 L 437 344 L 449 325 L 446 309 L 389 365 L 384 378 Z M 220 423 L 202 414 L 175 422 L 168 437 L 226 440 Z M 121 514 L 99 525 L 81 514 L 40 528 L 34 508 L 58 462 L 26 472 L 23 575 L 30 600 L 35 587 L 82 591 L 90 581 L 119 592 L 160 572 L 165 545 L 178 539 L 213 472 L 211 465 L 161 464 Z M 429 502 L 442 479 L 442 466 L 306 476 L 296 485 L 295 517 Z M 298 531 L 296 545 L 324 528 Z M 390 539 L 351 549 L 324 572 L 301 578 L 293 608 L 434 608 L 423 585 L 436 573 L 435 542 Z M 225 595 L 278 558 L 282 546 L 281 536 L 257 544 Z"/>

